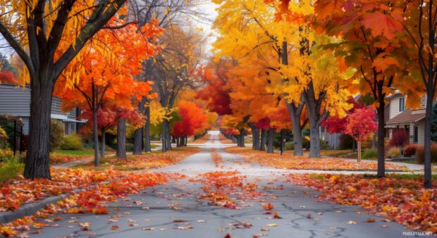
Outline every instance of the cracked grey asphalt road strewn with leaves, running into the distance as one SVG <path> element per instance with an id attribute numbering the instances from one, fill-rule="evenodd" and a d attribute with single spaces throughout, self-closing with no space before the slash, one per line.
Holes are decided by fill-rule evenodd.
<path id="1" fill-rule="evenodd" d="M 61 220 L 49 223 L 39 234 L 30 237 L 406 237 L 407 230 L 398 223 L 387 223 L 383 217 L 370 215 L 358 206 L 342 206 L 316 198 L 317 192 L 285 182 L 279 170 L 259 165 L 247 165 L 233 154 L 223 151 L 226 146 L 213 134 L 202 151 L 182 163 L 156 170 L 187 175 L 184 180 L 171 181 L 110 203 L 108 215 L 58 214 Z M 211 149 L 223 158 L 216 168 Z M 202 185 L 193 182 L 199 173 L 216 170 L 238 170 L 247 182 L 255 182 L 263 193 L 256 199 L 242 198 L 245 194 L 228 194 L 237 201 L 239 209 L 211 206 L 199 199 Z M 296 171 L 294 171 L 296 172 Z M 302 171 L 297 171 L 302 173 Z M 326 171 L 325 171 L 326 173 Z M 283 189 L 275 189 L 282 186 Z M 264 214 L 261 206 L 271 203 L 282 219 Z M 374 223 L 368 223 L 374 218 Z M 52 218 L 45 218 L 45 220 Z M 47 223 L 47 222 L 46 222 Z M 89 223 L 89 224 L 88 224 Z M 81 227 L 82 225 L 82 227 Z M 83 225 L 89 225 L 85 229 Z M 411 234 L 411 233 L 410 233 Z M 426 237 L 426 236 L 424 236 Z"/>

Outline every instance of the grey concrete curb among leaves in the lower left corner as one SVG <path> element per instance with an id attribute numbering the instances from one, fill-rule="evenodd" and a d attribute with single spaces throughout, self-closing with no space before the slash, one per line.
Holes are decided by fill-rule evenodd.
<path id="1" fill-rule="evenodd" d="M 69 194 L 60 194 L 58 196 L 49 196 L 42 201 L 37 201 L 35 203 L 25 203 L 16 211 L 5 211 L 0 213 L 0 224 L 1 223 L 11 223 L 13 220 L 18 218 L 23 218 L 28 215 L 35 215 L 37 211 L 47 208 L 49 204 L 57 203 L 58 201 L 62 201 L 62 199 L 70 196 Z"/>

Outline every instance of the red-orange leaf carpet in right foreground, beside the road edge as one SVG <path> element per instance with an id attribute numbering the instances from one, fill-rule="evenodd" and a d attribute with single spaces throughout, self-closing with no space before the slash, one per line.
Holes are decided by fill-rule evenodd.
<path id="1" fill-rule="evenodd" d="M 290 182 L 314 187 L 323 199 L 345 205 L 361 205 L 414 230 L 437 232 L 437 186 L 424 189 L 423 180 L 365 175 L 290 174 Z M 437 181 L 433 181 L 436 184 Z"/>

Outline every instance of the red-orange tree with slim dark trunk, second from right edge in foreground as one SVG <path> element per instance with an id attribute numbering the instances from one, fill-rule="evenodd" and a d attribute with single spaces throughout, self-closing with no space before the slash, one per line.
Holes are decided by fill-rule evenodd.
<path id="1" fill-rule="evenodd" d="M 365 6 L 365 7 L 354 7 Z M 384 110 L 386 96 L 393 87 L 411 94 L 417 87 L 410 74 L 409 50 L 402 30 L 403 3 L 400 1 L 329 1 L 314 4 L 314 27 L 317 32 L 340 37 L 340 42 L 326 44 L 335 50 L 349 68 L 356 71 L 350 77 L 350 91 L 374 97 L 378 115 L 378 177 L 385 176 L 384 165 Z M 407 56 L 407 57 L 405 57 Z M 410 99 L 410 97 L 409 97 Z M 411 97 L 414 105 L 417 99 Z"/>

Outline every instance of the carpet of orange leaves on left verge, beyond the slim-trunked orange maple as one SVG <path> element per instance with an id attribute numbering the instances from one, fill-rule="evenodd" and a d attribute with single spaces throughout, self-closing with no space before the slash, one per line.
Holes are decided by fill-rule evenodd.
<path id="1" fill-rule="evenodd" d="M 166 153 L 152 152 L 142 155 L 129 155 L 127 159 L 113 157 L 104 158 L 102 167 L 110 167 L 114 170 L 146 170 L 162 168 L 183 161 L 187 156 L 196 154 L 200 149 L 197 147 L 181 147 L 167 151 Z M 85 163 L 85 166 L 94 168 L 93 163 Z"/>

